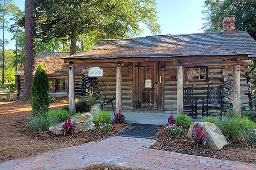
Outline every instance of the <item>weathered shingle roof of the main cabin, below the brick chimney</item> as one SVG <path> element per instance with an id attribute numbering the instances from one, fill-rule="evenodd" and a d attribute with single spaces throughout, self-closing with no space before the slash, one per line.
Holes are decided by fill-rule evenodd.
<path id="1" fill-rule="evenodd" d="M 250 57 L 256 57 L 256 41 L 246 31 L 237 31 L 236 34 L 212 32 L 101 40 L 93 50 L 70 57 L 106 59 L 239 54 L 248 54 Z"/>

